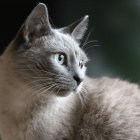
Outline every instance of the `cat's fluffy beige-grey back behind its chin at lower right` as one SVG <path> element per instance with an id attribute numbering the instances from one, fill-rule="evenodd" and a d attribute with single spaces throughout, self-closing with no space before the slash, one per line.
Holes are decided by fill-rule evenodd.
<path id="1" fill-rule="evenodd" d="M 86 83 L 89 100 L 78 139 L 139 140 L 139 86 L 105 77 Z"/>

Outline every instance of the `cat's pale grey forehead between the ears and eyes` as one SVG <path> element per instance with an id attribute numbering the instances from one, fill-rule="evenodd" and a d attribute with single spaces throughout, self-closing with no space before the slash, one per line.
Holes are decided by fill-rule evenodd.
<path id="1" fill-rule="evenodd" d="M 46 36 L 44 39 L 46 49 L 50 49 L 56 52 L 64 52 L 69 55 L 77 55 L 79 57 L 85 57 L 86 54 L 81 50 L 79 44 L 69 34 L 61 33 L 54 29 L 53 34 Z"/>

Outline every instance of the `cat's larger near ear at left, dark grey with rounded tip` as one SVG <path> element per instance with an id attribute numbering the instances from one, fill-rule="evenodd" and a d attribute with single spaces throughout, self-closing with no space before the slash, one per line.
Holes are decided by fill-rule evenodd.
<path id="1" fill-rule="evenodd" d="M 35 38 L 48 34 L 50 30 L 47 7 L 45 4 L 39 3 L 25 21 L 24 37 L 31 42 Z"/>

